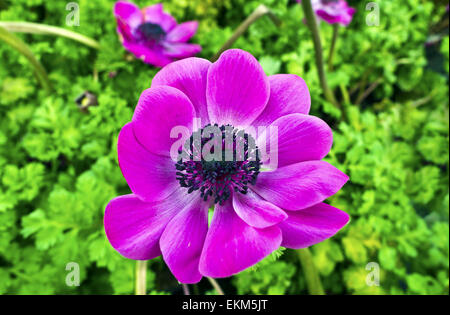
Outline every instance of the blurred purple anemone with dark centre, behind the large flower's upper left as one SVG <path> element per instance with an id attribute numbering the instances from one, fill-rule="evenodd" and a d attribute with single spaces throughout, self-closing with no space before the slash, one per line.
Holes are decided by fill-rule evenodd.
<path id="1" fill-rule="evenodd" d="M 123 46 L 145 63 L 164 67 L 202 50 L 200 45 L 187 43 L 197 31 L 198 22 L 177 25 L 175 18 L 164 12 L 161 3 L 140 10 L 134 3 L 118 1 L 114 16 Z"/>

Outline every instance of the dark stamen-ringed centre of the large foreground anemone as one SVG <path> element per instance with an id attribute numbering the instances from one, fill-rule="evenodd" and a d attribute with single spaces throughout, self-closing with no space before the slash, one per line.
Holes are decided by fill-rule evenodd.
<path id="1" fill-rule="evenodd" d="M 211 197 L 223 204 L 233 191 L 246 194 L 261 166 L 253 137 L 233 126 L 207 125 L 194 132 L 178 151 L 177 180 L 188 193 L 200 190 L 204 201 Z"/>

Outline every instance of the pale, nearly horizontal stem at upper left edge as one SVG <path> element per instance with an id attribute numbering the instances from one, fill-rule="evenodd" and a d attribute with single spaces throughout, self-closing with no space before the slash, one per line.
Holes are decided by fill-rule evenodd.
<path id="1" fill-rule="evenodd" d="M 66 30 L 61 27 L 39 24 L 39 23 L 29 23 L 29 22 L 0 22 L 0 27 L 4 27 L 10 32 L 16 33 L 31 33 L 31 34 L 41 34 L 41 35 L 56 35 L 66 38 L 70 38 L 77 42 L 80 42 L 86 46 L 100 49 L 100 44 L 94 39 Z"/>

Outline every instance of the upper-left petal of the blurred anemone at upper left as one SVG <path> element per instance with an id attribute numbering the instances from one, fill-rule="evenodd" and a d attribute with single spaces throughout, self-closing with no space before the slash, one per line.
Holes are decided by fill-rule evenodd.
<path id="1" fill-rule="evenodd" d="M 134 3 L 118 1 L 114 4 L 113 12 L 117 19 L 117 31 L 123 39 L 131 39 L 133 30 L 143 22 L 141 10 Z"/>

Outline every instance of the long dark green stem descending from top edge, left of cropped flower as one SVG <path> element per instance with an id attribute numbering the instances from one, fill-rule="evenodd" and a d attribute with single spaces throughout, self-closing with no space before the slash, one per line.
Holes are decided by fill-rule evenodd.
<path id="1" fill-rule="evenodd" d="M 320 85 L 322 87 L 322 91 L 325 95 L 325 99 L 330 103 L 334 104 L 337 108 L 340 109 L 340 105 L 336 101 L 333 92 L 328 87 L 327 78 L 325 75 L 324 62 L 323 62 L 323 53 L 322 53 L 322 43 L 320 41 L 319 28 L 317 27 L 316 17 L 314 15 L 311 0 L 303 0 L 302 1 L 303 12 L 305 13 L 306 22 L 308 24 L 309 29 L 311 30 L 314 42 L 314 50 L 316 57 L 316 67 L 317 72 L 319 74 Z"/>

